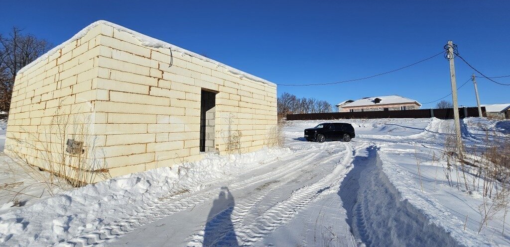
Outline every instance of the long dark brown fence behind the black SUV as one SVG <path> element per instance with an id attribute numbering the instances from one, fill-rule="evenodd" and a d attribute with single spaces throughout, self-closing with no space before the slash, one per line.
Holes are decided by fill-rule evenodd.
<path id="1" fill-rule="evenodd" d="M 483 117 L 487 117 L 485 107 L 481 107 Z M 461 118 L 479 117 L 477 107 L 458 108 Z M 376 118 L 439 118 L 453 119 L 453 108 L 446 109 L 418 109 L 402 111 L 372 111 L 348 113 L 307 113 L 288 114 L 287 120 L 330 120 L 330 119 L 376 119 Z"/>

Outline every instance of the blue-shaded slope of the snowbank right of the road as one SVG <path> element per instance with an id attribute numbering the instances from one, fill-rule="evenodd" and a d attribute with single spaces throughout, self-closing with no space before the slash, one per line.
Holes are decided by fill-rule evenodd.
<path id="1" fill-rule="evenodd" d="M 382 172 L 383 165 L 375 147 L 368 149 L 368 157 L 357 158 L 354 160 L 354 168 L 342 181 L 339 191 L 347 210 L 347 222 L 357 239 L 367 246 L 381 247 L 463 246 L 444 228 L 438 227 L 441 226 L 438 223 L 442 222 L 430 224 L 428 214 L 421 212 L 407 200 L 406 196 L 409 195 L 404 193 L 401 196 Z M 430 203 L 420 202 L 420 207 L 427 204 Z M 434 215 L 444 214 L 442 219 L 451 221 L 451 215 L 446 212 L 433 211 Z M 473 234 L 469 237 L 473 237 Z M 478 238 L 474 236 L 471 243 L 465 245 L 486 245 Z"/>

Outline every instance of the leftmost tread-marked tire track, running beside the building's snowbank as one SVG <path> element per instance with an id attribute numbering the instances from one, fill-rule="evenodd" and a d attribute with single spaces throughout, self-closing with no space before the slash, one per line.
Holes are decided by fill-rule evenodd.
<path id="1" fill-rule="evenodd" d="M 327 148 L 327 146 L 320 146 L 321 150 Z M 313 160 L 319 153 L 317 150 L 302 150 L 294 155 L 289 155 L 290 158 L 287 162 L 284 160 L 274 160 L 274 162 L 289 163 L 293 160 L 298 160 L 295 164 L 306 166 L 308 161 Z M 287 156 L 287 157 L 289 157 Z M 304 157 L 303 157 L 304 156 Z M 269 166 L 269 164 L 268 164 Z M 267 166 L 266 166 L 267 167 Z M 283 174 L 296 169 L 295 166 L 280 166 L 277 169 L 246 179 L 242 182 L 231 184 L 230 186 L 235 189 L 241 189 L 253 185 L 254 183 L 260 183 L 275 177 L 279 177 Z M 147 204 L 147 207 L 141 208 L 140 211 L 134 215 L 128 215 L 119 221 L 115 221 L 106 225 L 101 226 L 99 229 L 92 232 L 82 234 L 80 236 L 73 237 L 71 239 L 64 240 L 62 242 L 54 244 L 55 246 L 91 246 L 99 243 L 103 243 L 107 240 L 118 238 L 125 233 L 129 233 L 143 225 L 149 224 L 156 221 L 157 219 L 169 216 L 173 213 L 194 207 L 195 205 L 201 204 L 205 201 L 215 198 L 220 189 L 212 189 L 203 191 L 192 196 L 183 195 L 181 199 L 171 201 L 174 198 L 167 198 L 160 202 L 153 202 Z M 168 204 L 167 204 L 168 203 Z"/>

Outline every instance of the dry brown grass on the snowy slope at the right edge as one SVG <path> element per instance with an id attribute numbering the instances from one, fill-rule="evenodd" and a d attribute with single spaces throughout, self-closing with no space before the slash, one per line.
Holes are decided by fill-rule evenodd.
<path id="1" fill-rule="evenodd" d="M 448 168 L 445 176 L 450 186 L 451 163 L 457 173 L 457 189 L 463 184 L 466 191 L 478 191 L 482 196 L 482 204 L 478 206 L 481 220 L 478 228 L 480 232 L 495 215 L 503 212 L 503 221 L 506 218 L 506 208 L 510 203 L 510 134 L 491 132 L 487 126 L 479 126 L 486 131 L 485 138 L 480 143 L 467 147 L 463 158 L 459 158 L 458 149 L 454 145 L 453 135 L 448 134 L 445 139 L 444 156 Z M 462 176 L 458 174 L 462 173 Z M 463 181 L 460 181 L 460 180 Z M 451 183 L 450 183 L 451 181 Z M 471 193 L 471 192 L 470 192 Z M 504 231 L 504 222 L 503 229 Z"/>

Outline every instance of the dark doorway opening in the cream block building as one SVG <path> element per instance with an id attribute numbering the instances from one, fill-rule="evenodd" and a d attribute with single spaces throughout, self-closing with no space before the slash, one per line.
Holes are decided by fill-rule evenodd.
<path id="1" fill-rule="evenodd" d="M 202 89 L 200 93 L 200 152 L 212 152 L 217 92 Z"/>

